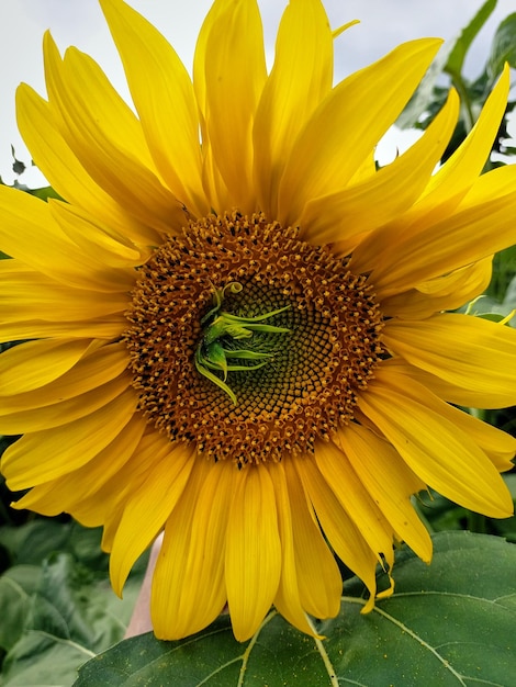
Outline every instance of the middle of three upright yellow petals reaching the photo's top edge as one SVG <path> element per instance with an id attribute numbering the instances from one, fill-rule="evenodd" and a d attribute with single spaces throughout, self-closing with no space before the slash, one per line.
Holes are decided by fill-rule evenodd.
<path id="1" fill-rule="evenodd" d="M 203 65 L 195 76 L 202 79 L 200 89 L 205 93 L 204 135 L 233 205 L 253 212 L 257 209 L 253 124 L 266 80 L 263 33 L 256 0 L 218 0 L 204 21 L 195 60 Z"/>

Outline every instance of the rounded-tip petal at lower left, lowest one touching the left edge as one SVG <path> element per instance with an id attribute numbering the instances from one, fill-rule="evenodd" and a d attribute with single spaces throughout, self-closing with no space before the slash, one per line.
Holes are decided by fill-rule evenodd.
<path id="1" fill-rule="evenodd" d="M 2 457 L 9 488 L 26 489 L 80 468 L 123 431 L 136 404 L 136 394 L 128 390 L 87 417 L 25 435 Z"/>

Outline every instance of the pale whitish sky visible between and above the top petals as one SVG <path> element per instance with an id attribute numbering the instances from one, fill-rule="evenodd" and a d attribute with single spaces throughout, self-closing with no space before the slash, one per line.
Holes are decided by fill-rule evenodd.
<path id="1" fill-rule="evenodd" d="M 287 1 L 258 2 L 271 64 L 276 30 Z M 340 80 L 404 41 L 423 36 L 453 38 L 483 0 L 323 0 L 323 3 L 334 27 L 352 19 L 360 20 L 335 45 L 335 76 Z M 197 34 L 211 0 L 128 0 L 128 4 L 165 34 L 190 69 Z M 495 27 L 514 10 L 514 0 L 498 0 L 467 61 L 469 77 L 480 74 Z M 61 50 L 75 45 L 90 54 L 128 100 L 123 70 L 97 0 L 0 0 L 0 174 L 7 183 L 14 178 L 11 144 L 16 157 L 25 162 L 30 160 L 15 124 L 14 93 L 21 81 L 45 93 L 41 45 L 47 29 Z M 408 140 L 411 134 L 392 134 L 394 155 L 395 148 L 406 147 Z M 42 185 L 34 170 L 25 173 L 23 180 L 29 185 Z"/>

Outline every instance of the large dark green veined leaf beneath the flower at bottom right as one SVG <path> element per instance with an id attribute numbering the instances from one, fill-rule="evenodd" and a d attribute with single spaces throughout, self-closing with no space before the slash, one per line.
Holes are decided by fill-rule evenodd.
<path id="1" fill-rule="evenodd" d="M 271 612 L 239 644 L 221 617 L 180 642 L 152 633 L 121 642 L 83 665 L 75 687 L 514 685 L 516 547 L 465 532 L 434 544 L 430 566 L 399 553 L 395 594 L 368 615 L 363 585 L 348 581 L 340 615 L 318 626 L 322 642 Z"/>

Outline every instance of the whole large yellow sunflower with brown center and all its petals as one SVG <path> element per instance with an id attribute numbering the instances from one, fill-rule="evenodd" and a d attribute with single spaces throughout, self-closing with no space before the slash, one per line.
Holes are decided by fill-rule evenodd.
<path id="1" fill-rule="evenodd" d="M 23 341 L 0 359 L 0 431 L 23 435 L 2 472 L 30 488 L 18 508 L 103 526 L 119 594 L 164 531 L 158 638 L 226 602 L 238 640 L 272 605 L 313 634 L 339 610 L 336 556 L 366 609 L 394 543 L 430 561 L 414 494 L 512 514 L 515 440 L 457 406 L 516 403 L 516 331 L 446 312 L 516 237 L 516 169 L 480 176 L 508 71 L 437 172 L 453 91 L 378 170 L 439 41 L 334 87 L 318 0 L 291 0 L 270 72 L 256 1 L 216 0 L 192 80 L 143 16 L 100 2 L 134 110 L 49 35 L 47 99 L 18 91 L 63 200 L 0 189 L 0 334 Z"/>

